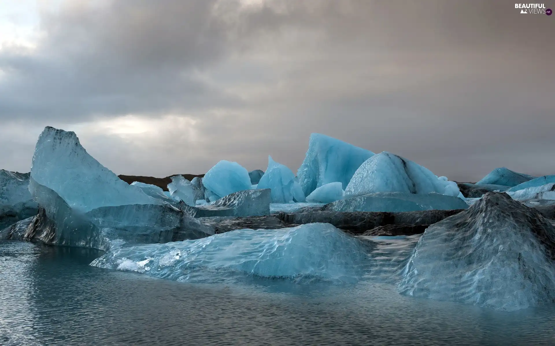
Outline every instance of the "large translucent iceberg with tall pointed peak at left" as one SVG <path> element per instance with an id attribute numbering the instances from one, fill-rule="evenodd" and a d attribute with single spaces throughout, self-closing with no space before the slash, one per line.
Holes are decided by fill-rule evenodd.
<path id="1" fill-rule="evenodd" d="M 23 234 L 11 232 L 12 239 L 108 250 L 213 234 L 159 190 L 120 180 L 85 151 L 75 133 L 52 127 L 37 142 L 29 192 L 42 208 Z"/>

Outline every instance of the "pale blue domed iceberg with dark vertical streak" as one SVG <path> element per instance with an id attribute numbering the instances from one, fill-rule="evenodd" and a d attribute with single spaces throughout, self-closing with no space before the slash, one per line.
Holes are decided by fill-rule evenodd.
<path id="1" fill-rule="evenodd" d="M 446 177 L 438 178 L 429 169 L 388 152 L 372 156 L 356 170 L 345 189 L 345 197 L 377 192 L 436 192 L 462 197 L 457 183 L 450 182 Z"/>

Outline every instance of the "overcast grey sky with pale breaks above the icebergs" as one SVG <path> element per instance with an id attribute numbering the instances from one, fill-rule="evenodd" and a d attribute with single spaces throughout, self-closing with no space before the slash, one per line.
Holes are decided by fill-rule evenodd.
<path id="1" fill-rule="evenodd" d="M 555 9 L 555 2 L 546 3 Z M 555 174 L 555 16 L 508 1 L 0 1 L 0 168 L 296 172 L 311 132 L 452 180 Z"/>

